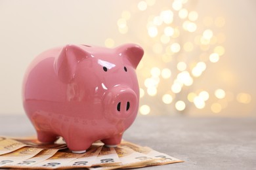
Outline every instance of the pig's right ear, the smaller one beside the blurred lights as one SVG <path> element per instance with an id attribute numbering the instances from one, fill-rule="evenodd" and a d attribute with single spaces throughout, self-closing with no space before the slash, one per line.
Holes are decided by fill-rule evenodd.
<path id="1" fill-rule="evenodd" d="M 127 58 L 131 65 L 136 69 L 140 59 L 144 54 L 144 50 L 137 44 L 123 44 L 117 47 L 120 56 Z"/>

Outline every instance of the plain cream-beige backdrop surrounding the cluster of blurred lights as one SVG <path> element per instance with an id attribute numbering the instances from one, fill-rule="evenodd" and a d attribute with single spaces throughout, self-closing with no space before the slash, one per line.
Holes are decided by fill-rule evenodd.
<path id="1" fill-rule="evenodd" d="M 126 36 L 118 33 L 117 20 L 123 10 L 130 10 L 138 2 L 0 0 L 0 114 L 24 114 L 21 99 L 22 76 L 30 61 L 43 50 L 68 43 L 104 46 L 105 40 L 110 37 L 117 40 L 115 46 L 133 40 L 137 42 L 132 33 L 129 35 L 128 32 Z M 171 4 L 173 1 L 169 2 Z M 157 3 L 155 9 L 151 7 L 148 10 L 159 10 L 160 1 Z M 166 3 L 168 1 L 163 1 L 163 4 Z M 234 95 L 249 93 L 251 102 L 231 102 L 218 114 L 195 107 L 184 112 L 192 116 L 256 116 L 255 1 L 198 0 L 192 3 L 194 5 L 190 8 L 200 14 L 199 19 L 203 16 L 223 16 L 226 21 L 222 28 L 226 35 L 223 44 L 225 54 L 218 65 L 207 69 L 203 79 L 194 86 L 208 89 L 219 86 Z M 138 14 L 143 15 L 145 12 Z M 132 27 L 132 22 L 129 24 Z M 146 44 L 140 45 L 146 46 L 146 52 L 150 50 Z M 148 62 L 154 63 L 154 59 Z M 223 76 L 225 74 L 228 76 Z M 142 82 L 140 86 L 144 86 Z M 141 105 L 150 105 L 150 114 L 179 114 L 176 114 L 173 107 L 167 109 L 160 100 L 161 97 L 158 96 L 145 96 Z"/>

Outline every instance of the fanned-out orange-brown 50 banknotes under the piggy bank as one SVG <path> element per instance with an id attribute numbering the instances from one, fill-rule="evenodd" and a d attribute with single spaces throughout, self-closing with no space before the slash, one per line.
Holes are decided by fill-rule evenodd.
<path id="1" fill-rule="evenodd" d="M 0 169 L 131 169 L 182 162 L 147 146 L 122 141 L 108 148 L 100 141 L 83 154 L 74 154 L 58 139 L 41 144 L 36 139 L 0 137 Z"/>

